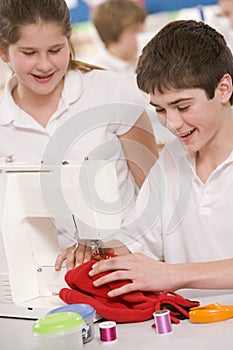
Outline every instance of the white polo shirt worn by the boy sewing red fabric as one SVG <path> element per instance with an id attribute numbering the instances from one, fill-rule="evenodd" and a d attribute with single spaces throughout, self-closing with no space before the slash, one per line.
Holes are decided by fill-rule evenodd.
<path id="1" fill-rule="evenodd" d="M 165 147 L 121 237 L 132 252 L 169 263 L 233 258 L 233 152 L 205 184 L 194 159 L 179 141 Z"/>

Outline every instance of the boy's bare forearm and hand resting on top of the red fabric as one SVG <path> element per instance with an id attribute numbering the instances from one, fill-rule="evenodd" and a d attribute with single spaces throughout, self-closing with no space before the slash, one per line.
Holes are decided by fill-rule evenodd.
<path id="1" fill-rule="evenodd" d="M 233 259 L 169 264 L 136 253 L 99 261 L 93 265 L 90 275 L 106 271 L 111 272 L 97 279 L 96 287 L 116 280 L 132 281 L 109 292 L 111 297 L 136 290 L 233 289 Z"/>

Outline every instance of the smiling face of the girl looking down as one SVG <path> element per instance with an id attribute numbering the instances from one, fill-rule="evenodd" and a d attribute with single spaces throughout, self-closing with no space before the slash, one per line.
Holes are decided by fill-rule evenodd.
<path id="1" fill-rule="evenodd" d="M 68 39 L 54 23 L 22 26 L 20 39 L 9 46 L 6 60 L 17 77 L 17 90 L 36 95 L 53 93 L 63 84 L 70 59 Z"/>

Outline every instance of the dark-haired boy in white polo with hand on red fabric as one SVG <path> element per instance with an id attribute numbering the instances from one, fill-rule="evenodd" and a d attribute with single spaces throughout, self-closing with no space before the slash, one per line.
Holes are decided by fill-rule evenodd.
<path id="1" fill-rule="evenodd" d="M 96 287 L 130 280 L 109 296 L 233 289 L 232 77 L 223 36 L 202 22 L 171 22 L 143 49 L 138 86 L 177 141 L 140 191 L 135 226 L 126 228 L 133 254 L 97 262 L 90 272 L 109 271 Z"/>

